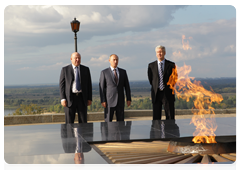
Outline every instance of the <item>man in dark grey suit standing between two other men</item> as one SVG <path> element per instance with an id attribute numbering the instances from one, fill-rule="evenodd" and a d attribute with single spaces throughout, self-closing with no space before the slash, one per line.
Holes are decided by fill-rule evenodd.
<path id="1" fill-rule="evenodd" d="M 109 57 L 110 67 L 102 70 L 99 81 L 99 92 L 104 107 L 105 122 L 112 122 L 114 111 L 117 121 L 124 121 L 124 89 L 127 97 L 127 106 L 131 105 L 131 90 L 127 72 L 117 67 L 118 56 Z"/>

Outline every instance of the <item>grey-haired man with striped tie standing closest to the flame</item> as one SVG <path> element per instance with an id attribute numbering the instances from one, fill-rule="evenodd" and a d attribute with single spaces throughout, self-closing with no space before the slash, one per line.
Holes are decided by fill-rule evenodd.
<path id="1" fill-rule="evenodd" d="M 148 80 L 152 86 L 153 120 L 161 120 L 162 105 L 166 119 L 175 119 L 175 95 L 172 94 L 172 89 L 167 85 L 172 69 L 175 68 L 175 63 L 164 58 L 166 54 L 164 46 L 157 46 L 155 51 L 158 60 L 148 65 Z"/>

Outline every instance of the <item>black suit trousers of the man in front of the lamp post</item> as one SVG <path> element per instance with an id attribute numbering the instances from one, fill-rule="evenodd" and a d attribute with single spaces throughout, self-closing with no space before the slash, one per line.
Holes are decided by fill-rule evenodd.
<path id="1" fill-rule="evenodd" d="M 73 102 L 71 107 L 64 107 L 65 122 L 74 123 L 76 112 L 78 113 L 78 123 L 87 123 L 87 106 L 84 105 L 82 93 L 72 93 Z"/>

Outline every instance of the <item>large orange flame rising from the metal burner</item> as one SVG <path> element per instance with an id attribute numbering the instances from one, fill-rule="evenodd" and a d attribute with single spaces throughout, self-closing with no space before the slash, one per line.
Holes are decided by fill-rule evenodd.
<path id="1" fill-rule="evenodd" d="M 196 126 L 196 131 L 193 133 L 195 137 L 192 141 L 194 143 L 216 143 L 214 132 L 217 130 L 217 124 L 214 108 L 211 107 L 211 104 L 212 102 L 220 103 L 223 98 L 212 88 L 211 91 L 204 89 L 201 82 L 194 80 L 194 77 L 188 77 L 190 72 L 191 66 L 185 64 L 183 67 L 174 68 L 167 85 L 170 86 L 173 94 L 175 90 L 178 99 L 182 98 L 189 102 L 190 98 L 195 98 L 192 108 L 194 116 L 190 122 Z M 210 118 L 206 119 L 206 114 L 211 114 Z"/>

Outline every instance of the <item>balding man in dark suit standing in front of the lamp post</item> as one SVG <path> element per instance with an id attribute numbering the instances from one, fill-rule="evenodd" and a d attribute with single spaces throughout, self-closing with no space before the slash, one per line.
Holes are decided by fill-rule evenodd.
<path id="1" fill-rule="evenodd" d="M 87 106 L 92 104 L 92 81 L 88 67 L 81 65 L 81 55 L 71 55 L 72 64 L 63 67 L 59 80 L 61 104 L 64 106 L 65 122 L 87 123 Z"/>

